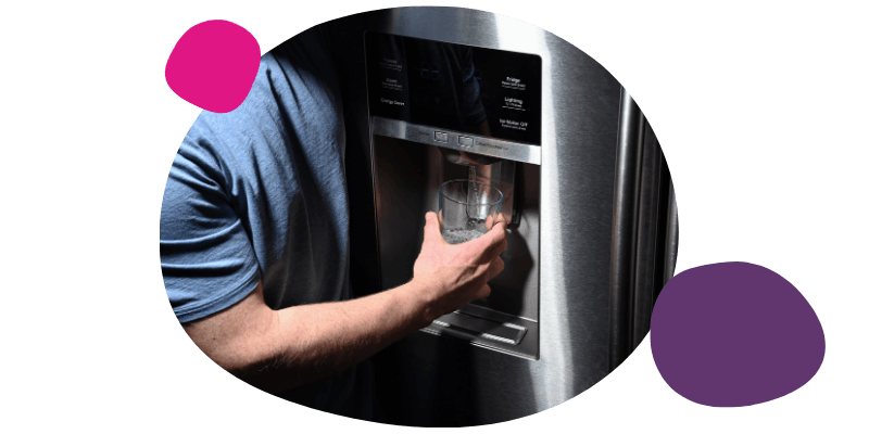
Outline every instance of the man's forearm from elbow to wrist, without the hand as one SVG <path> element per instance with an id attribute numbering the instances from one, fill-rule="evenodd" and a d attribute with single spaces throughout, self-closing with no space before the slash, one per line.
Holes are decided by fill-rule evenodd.
<path id="1" fill-rule="evenodd" d="M 234 373 L 270 393 L 333 375 L 430 323 L 419 294 L 411 282 L 363 298 L 273 310 Z"/>

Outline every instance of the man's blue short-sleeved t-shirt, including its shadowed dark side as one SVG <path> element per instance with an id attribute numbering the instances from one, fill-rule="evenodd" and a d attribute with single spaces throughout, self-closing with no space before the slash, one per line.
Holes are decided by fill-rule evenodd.
<path id="1" fill-rule="evenodd" d="M 273 309 L 349 299 L 340 88 L 322 26 L 262 56 L 235 111 L 202 111 L 169 169 L 160 215 L 166 295 L 181 323 L 260 280 Z M 370 420 L 366 361 L 280 396 Z"/>

